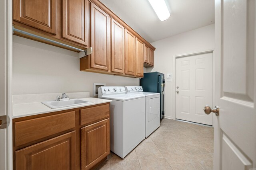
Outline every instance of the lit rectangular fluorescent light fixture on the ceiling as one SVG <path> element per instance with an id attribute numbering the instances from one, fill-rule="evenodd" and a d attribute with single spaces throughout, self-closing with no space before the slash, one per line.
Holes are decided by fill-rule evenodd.
<path id="1" fill-rule="evenodd" d="M 148 0 L 151 6 L 153 7 L 156 15 L 160 21 L 167 20 L 170 17 L 170 12 L 166 6 L 164 0 Z"/>

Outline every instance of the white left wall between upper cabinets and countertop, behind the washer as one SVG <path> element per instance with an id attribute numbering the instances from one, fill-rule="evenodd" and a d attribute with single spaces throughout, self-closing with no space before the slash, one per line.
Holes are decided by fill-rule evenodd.
<path id="1" fill-rule="evenodd" d="M 78 53 L 13 36 L 13 94 L 90 92 L 93 83 L 137 86 L 139 78 L 80 71 Z"/>

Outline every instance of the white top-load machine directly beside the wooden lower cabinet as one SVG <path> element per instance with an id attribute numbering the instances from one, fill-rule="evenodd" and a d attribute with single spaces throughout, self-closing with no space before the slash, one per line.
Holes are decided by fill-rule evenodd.
<path id="1" fill-rule="evenodd" d="M 124 158 L 145 139 L 145 97 L 124 87 L 101 86 L 98 98 L 110 102 L 110 150 Z"/>

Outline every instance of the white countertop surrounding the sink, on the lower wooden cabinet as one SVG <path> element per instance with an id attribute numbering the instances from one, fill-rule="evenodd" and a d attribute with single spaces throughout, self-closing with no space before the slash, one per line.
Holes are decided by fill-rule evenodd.
<path id="1" fill-rule="evenodd" d="M 68 110 L 68 109 L 74 109 L 78 107 L 92 106 L 96 104 L 112 102 L 112 100 L 106 100 L 106 99 L 100 99 L 100 98 L 80 98 L 79 100 L 84 100 L 92 103 L 61 107 L 56 109 L 51 109 L 50 107 L 45 106 L 41 102 L 14 104 L 12 106 L 12 118 L 14 119 L 18 117 L 38 115 L 42 113 L 50 113 L 54 111 Z"/>

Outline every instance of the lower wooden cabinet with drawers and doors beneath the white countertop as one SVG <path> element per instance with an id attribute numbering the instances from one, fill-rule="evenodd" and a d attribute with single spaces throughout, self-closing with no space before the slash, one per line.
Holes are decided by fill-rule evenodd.
<path id="1" fill-rule="evenodd" d="M 110 103 L 12 119 L 14 170 L 89 170 L 110 154 Z"/>

